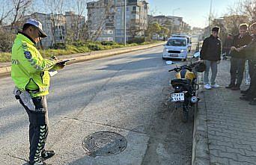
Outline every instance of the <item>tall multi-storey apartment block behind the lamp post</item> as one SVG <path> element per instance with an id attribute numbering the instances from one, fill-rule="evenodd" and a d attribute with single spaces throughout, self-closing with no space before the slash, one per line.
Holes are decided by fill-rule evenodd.
<path id="1" fill-rule="evenodd" d="M 100 0 L 89 2 L 88 29 L 91 40 L 124 42 L 124 14 L 126 13 L 127 40 L 144 36 L 147 30 L 147 1 Z"/>

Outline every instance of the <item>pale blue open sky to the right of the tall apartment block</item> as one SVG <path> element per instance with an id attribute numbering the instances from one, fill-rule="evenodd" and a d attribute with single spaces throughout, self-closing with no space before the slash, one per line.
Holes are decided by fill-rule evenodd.
<path id="1" fill-rule="evenodd" d="M 147 0 L 153 15 L 182 16 L 192 27 L 204 28 L 208 25 L 210 0 Z M 213 0 L 213 16 L 223 16 L 229 6 L 237 0 Z"/>

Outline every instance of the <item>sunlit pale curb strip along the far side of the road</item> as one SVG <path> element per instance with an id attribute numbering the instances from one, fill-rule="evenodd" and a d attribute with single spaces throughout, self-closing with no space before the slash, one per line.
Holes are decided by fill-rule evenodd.
<path id="1" fill-rule="evenodd" d="M 127 49 L 115 49 L 112 52 L 90 52 L 88 53 L 80 53 L 80 54 L 76 54 L 76 55 L 63 55 L 63 56 L 59 56 L 59 59 L 65 59 L 65 57 L 67 58 L 67 56 L 71 57 L 76 57 L 76 60 L 73 60 L 72 62 L 68 63 L 68 64 L 72 64 L 72 63 L 79 63 L 79 62 L 83 62 L 85 60 L 94 60 L 94 59 L 98 59 L 98 58 L 103 58 L 103 57 L 109 57 L 109 56 L 114 56 L 114 55 L 121 55 L 124 53 L 129 53 L 129 52 L 135 52 L 135 51 L 139 51 L 139 50 L 143 50 L 143 49 L 150 49 L 156 46 L 161 46 L 164 42 L 161 43 L 153 43 L 153 44 L 149 44 L 149 45 L 144 45 L 144 46 L 136 46 L 135 48 L 129 47 Z M 11 71 L 11 66 L 4 66 L 4 67 L 0 67 L 0 76 L 1 75 L 9 75 Z"/>

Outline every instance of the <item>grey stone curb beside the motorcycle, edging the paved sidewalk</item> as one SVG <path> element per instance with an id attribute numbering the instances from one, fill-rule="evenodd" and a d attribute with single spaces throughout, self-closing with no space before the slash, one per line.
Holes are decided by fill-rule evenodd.
<path id="1" fill-rule="evenodd" d="M 198 84 L 201 83 L 203 73 L 198 74 Z M 204 99 L 203 85 L 200 85 L 198 97 L 201 99 L 195 108 L 193 141 L 192 141 L 192 165 L 210 164 L 210 152 L 208 146 L 207 110 Z"/>

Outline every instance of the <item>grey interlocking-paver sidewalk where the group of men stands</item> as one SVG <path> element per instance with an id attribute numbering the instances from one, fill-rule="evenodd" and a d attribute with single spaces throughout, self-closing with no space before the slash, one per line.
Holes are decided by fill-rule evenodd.
<path id="1" fill-rule="evenodd" d="M 219 89 L 201 91 L 195 112 L 192 164 L 256 164 L 256 106 L 239 99 L 240 90 L 225 89 L 230 61 L 218 66 Z M 248 86 L 243 82 L 241 87 Z"/>

